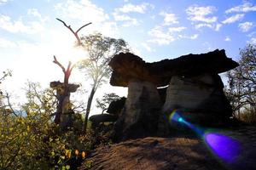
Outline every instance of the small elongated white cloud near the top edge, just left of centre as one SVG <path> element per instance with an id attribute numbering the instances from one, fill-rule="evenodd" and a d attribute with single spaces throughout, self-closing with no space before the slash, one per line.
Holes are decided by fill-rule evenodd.
<path id="1" fill-rule="evenodd" d="M 150 3 L 142 3 L 139 5 L 135 5 L 135 4 L 125 4 L 123 7 L 121 8 L 116 8 L 116 11 L 119 11 L 121 13 L 140 13 L 140 14 L 145 14 L 146 10 L 149 8 L 154 8 L 154 6 Z"/>

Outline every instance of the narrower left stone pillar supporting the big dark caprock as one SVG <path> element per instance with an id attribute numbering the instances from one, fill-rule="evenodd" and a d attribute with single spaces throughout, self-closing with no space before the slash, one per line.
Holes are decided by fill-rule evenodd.
<path id="1" fill-rule="evenodd" d="M 161 105 L 153 83 L 129 82 L 125 107 L 116 122 L 116 138 L 129 139 L 156 133 Z"/>

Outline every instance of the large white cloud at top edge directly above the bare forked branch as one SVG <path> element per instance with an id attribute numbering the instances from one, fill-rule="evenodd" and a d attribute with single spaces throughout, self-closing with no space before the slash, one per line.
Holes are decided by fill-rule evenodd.
<path id="1" fill-rule="evenodd" d="M 91 3 L 90 0 L 67 0 L 55 5 L 55 11 L 66 19 L 79 20 L 82 23 L 101 23 L 109 19 L 103 8 Z"/>

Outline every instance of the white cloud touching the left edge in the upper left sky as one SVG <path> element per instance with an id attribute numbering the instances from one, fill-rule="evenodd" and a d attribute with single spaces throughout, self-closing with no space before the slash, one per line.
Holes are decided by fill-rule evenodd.
<path id="1" fill-rule="evenodd" d="M 12 20 L 8 15 L 0 14 L 0 28 L 12 33 L 34 34 L 44 30 L 40 22 L 32 21 L 24 24 L 22 20 Z"/>

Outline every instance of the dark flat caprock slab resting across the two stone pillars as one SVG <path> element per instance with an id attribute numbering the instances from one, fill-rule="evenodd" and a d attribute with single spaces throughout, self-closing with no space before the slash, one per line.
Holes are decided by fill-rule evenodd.
<path id="1" fill-rule="evenodd" d="M 218 74 L 238 66 L 227 58 L 224 49 L 207 54 L 188 54 L 177 59 L 164 59 L 147 63 L 137 55 L 120 53 L 109 65 L 113 68 L 110 84 L 127 87 L 132 79 L 153 82 L 157 87 L 168 85 L 172 76 L 196 76 L 201 73 Z"/>

